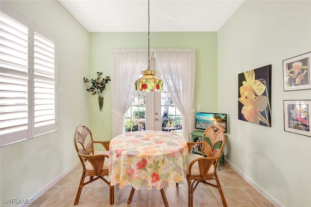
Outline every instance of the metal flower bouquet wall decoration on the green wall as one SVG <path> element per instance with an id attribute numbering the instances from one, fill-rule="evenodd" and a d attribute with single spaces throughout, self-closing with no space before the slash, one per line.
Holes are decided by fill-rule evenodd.
<path id="1" fill-rule="evenodd" d="M 98 104 L 99 104 L 99 110 L 103 110 L 104 105 L 104 90 L 106 89 L 106 84 L 111 81 L 109 76 L 106 76 L 106 78 L 102 78 L 103 72 L 97 72 L 97 78 L 96 79 L 87 79 L 86 77 L 83 78 L 84 83 L 92 83 L 91 87 L 86 89 L 86 91 L 91 92 L 94 96 L 95 94 L 98 95 Z"/>

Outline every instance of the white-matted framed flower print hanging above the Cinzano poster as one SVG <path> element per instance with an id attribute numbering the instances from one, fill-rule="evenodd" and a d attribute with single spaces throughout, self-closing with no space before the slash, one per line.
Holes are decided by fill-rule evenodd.
<path id="1" fill-rule="evenodd" d="M 311 89 L 311 52 L 283 61 L 284 91 Z"/>

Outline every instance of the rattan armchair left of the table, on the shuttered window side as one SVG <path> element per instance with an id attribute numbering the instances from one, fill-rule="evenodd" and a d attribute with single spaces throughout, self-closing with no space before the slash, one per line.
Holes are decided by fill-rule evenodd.
<path id="1" fill-rule="evenodd" d="M 110 185 L 104 176 L 108 177 L 109 163 L 109 143 L 110 141 L 93 141 L 92 132 L 84 125 L 79 125 L 74 129 L 73 136 L 74 146 L 81 161 L 83 172 L 77 191 L 74 205 L 77 205 L 83 186 L 97 180 L 102 179 L 109 186 L 110 205 L 114 204 L 114 188 Z M 94 153 L 94 144 L 99 143 L 104 146 L 105 151 Z M 89 181 L 85 182 L 85 178 L 89 176 Z M 94 178 L 95 177 L 95 178 Z"/>

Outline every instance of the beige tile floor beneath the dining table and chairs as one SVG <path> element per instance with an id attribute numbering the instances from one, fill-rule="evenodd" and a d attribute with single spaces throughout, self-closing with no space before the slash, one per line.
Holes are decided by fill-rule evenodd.
<path id="1" fill-rule="evenodd" d="M 48 191 L 43 193 L 29 207 L 70 207 L 77 193 L 82 168 L 78 165 Z M 223 163 L 218 176 L 228 207 L 274 207 L 256 189 L 248 184 L 229 165 Z M 87 178 L 86 178 L 87 179 Z M 119 189 L 115 186 L 115 203 L 109 205 L 109 188 L 102 180 L 86 185 L 81 193 L 77 207 L 164 207 L 160 191 L 142 188 L 135 191 L 132 202 L 127 199 L 131 187 Z M 164 189 L 170 207 L 188 207 L 188 184 L 179 184 L 174 189 Z M 194 207 L 222 207 L 223 203 L 217 189 L 202 183 L 194 191 Z"/>

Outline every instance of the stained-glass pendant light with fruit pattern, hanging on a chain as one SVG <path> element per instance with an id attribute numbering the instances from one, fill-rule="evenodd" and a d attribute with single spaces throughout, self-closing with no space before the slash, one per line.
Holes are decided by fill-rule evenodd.
<path id="1" fill-rule="evenodd" d="M 157 91 L 163 90 L 163 81 L 155 77 L 156 71 L 150 70 L 150 0 L 148 0 L 148 70 L 141 71 L 143 75 L 135 81 L 136 91 Z"/>

